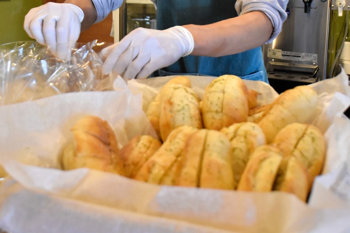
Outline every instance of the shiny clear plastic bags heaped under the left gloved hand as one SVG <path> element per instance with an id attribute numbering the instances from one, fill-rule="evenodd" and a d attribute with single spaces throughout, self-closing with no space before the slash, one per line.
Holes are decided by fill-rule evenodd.
<path id="1" fill-rule="evenodd" d="M 34 41 L 0 45 L 0 106 L 61 93 L 112 90 L 98 52 L 111 44 L 77 43 L 68 60 Z"/>

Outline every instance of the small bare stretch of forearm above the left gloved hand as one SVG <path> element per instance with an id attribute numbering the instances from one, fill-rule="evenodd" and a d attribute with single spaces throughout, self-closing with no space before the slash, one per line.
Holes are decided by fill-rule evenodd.
<path id="1" fill-rule="evenodd" d="M 66 0 L 64 3 L 71 3 L 80 7 L 84 12 L 81 31 L 85 31 L 92 26 L 97 19 L 97 11 L 91 0 Z"/>

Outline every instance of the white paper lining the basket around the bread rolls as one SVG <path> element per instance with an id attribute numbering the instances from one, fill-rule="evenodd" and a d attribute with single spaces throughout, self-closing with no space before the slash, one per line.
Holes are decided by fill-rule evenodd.
<path id="1" fill-rule="evenodd" d="M 200 98 L 215 78 L 188 77 Z M 62 146 L 71 137 L 69 129 L 84 115 L 108 121 L 120 147 L 137 134 L 156 137 L 142 109 L 170 78 L 132 80 L 127 86 L 118 78 L 114 92 L 70 93 L 1 107 L 0 161 L 12 178 L 0 187 L 0 228 L 13 233 L 350 229 L 350 150 L 340 144 L 350 139 L 350 121 L 341 115 L 350 104 L 344 73 L 313 84 L 321 100 L 314 124 L 323 127 L 328 151 L 326 172 L 317 177 L 309 204 L 281 192 L 168 187 L 97 170 L 57 169 Z M 266 83 L 245 82 L 261 93 L 259 105 L 278 96 Z"/>

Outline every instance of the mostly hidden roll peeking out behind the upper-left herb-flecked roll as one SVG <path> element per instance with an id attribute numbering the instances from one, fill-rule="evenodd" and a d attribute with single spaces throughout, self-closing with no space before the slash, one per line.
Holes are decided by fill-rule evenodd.
<path id="1" fill-rule="evenodd" d="M 167 85 L 170 84 L 180 84 L 184 87 L 191 87 L 192 83 L 191 80 L 184 76 L 179 76 L 173 79 L 170 79 L 169 82 L 167 82 Z M 159 130 L 159 117 L 160 117 L 160 93 L 156 95 L 155 99 L 149 104 L 148 109 L 146 111 L 146 115 L 151 122 L 155 132 L 157 133 L 158 137 L 161 138 L 160 130 Z"/>

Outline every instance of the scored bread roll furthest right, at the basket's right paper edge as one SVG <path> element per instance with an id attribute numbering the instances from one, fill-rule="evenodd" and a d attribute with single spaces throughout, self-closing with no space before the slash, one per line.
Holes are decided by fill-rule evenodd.
<path id="1" fill-rule="evenodd" d="M 290 124 L 277 134 L 274 143 L 285 156 L 294 156 L 307 168 L 311 188 L 315 177 L 321 173 L 325 158 L 321 131 L 309 124 Z"/>

